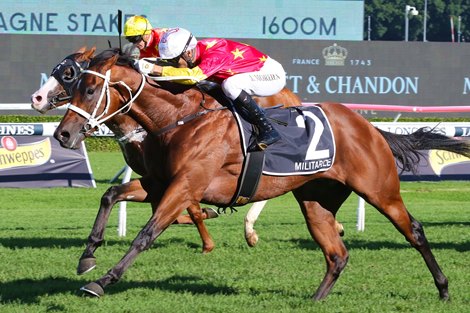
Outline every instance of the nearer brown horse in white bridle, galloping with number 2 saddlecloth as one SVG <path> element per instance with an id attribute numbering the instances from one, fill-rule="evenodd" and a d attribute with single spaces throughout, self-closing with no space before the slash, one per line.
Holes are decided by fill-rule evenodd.
<path id="1" fill-rule="evenodd" d="M 107 274 L 82 287 L 94 296 L 119 281 L 140 252 L 186 208 L 200 213 L 199 203 L 227 206 L 236 190 L 243 153 L 237 125 L 229 110 L 194 88 L 149 85 L 117 50 L 95 57 L 73 91 L 72 106 L 54 137 L 77 148 L 90 126 L 110 115 L 127 112 L 149 135 L 145 149 L 147 175 L 139 180 L 153 214 L 124 257 Z M 158 103 L 158 105 L 156 104 Z M 419 149 L 444 149 L 470 156 L 470 144 L 420 130 L 395 135 L 373 127 L 359 114 L 337 103 L 318 105 L 326 114 L 336 141 L 336 157 L 326 171 L 294 176 L 263 175 L 252 201 L 292 191 L 312 238 L 325 256 L 327 270 L 313 298 L 328 295 L 348 261 L 348 251 L 335 229 L 335 215 L 351 192 L 385 215 L 422 255 L 441 299 L 448 299 L 442 273 L 421 224 L 407 211 L 400 195 L 394 156 L 406 170 L 416 169 Z M 183 125 L 178 121 L 195 117 Z M 173 125 L 173 127 L 168 127 Z M 166 129 L 165 132 L 161 132 Z"/>

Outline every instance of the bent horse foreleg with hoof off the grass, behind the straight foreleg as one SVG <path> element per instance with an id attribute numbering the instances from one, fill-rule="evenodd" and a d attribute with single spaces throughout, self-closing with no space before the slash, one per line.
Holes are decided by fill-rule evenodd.
<path id="1" fill-rule="evenodd" d="M 101 246 L 104 240 L 106 224 L 114 204 L 118 201 L 144 202 L 147 192 L 142 188 L 140 180 L 132 180 L 126 184 L 112 186 L 101 197 L 100 208 L 95 218 L 95 223 L 88 236 L 88 242 L 85 250 L 80 257 L 77 274 L 85 274 L 96 267 L 96 258 L 94 252 Z"/>

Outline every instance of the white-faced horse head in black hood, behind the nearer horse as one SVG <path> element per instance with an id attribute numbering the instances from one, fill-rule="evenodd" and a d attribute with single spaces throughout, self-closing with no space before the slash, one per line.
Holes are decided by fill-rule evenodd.
<path id="1" fill-rule="evenodd" d="M 71 98 L 72 85 L 88 67 L 96 48 L 80 48 L 65 57 L 51 72 L 48 80 L 31 96 L 31 107 L 40 113 L 62 106 Z"/>

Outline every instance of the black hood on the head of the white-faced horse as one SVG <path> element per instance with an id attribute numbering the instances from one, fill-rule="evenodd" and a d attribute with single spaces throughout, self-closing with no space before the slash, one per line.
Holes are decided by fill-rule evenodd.
<path id="1" fill-rule="evenodd" d="M 64 88 L 64 91 L 51 98 L 49 103 L 52 108 L 57 107 L 57 103 L 70 100 L 72 98 L 72 87 L 77 82 L 84 68 L 87 68 L 89 61 L 77 62 L 75 61 L 75 56 L 79 53 L 74 53 L 66 57 L 62 62 L 56 65 L 51 72 L 52 77 L 54 77 L 57 82 Z M 70 69 L 70 75 L 65 74 L 65 70 Z M 65 92 L 66 96 L 61 96 Z"/>

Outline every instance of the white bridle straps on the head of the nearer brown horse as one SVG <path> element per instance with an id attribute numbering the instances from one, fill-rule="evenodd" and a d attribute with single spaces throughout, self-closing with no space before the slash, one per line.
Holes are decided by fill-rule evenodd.
<path id="1" fill-rule="evenodd" d="M 116 114 L 119 114 L 119 113 L 123 112 L 126 109 L 127 109 L 127 111 L 124 112 L 124 113 L 129 112 L 129 110 L 132 107 L 132 104 L 134 103 L 134 100 L 137 99 L 137 97 L 140 95 L 140 93 L 142 92 L 142 90 L 144 89 L 144 86 L 145 86 L 145 76 L 141 74 L 142 81 L 140 83 L 139 89 L 137 90 L 135 95 L 132 95 L 132 89 L 125 82 L 119 81 L 117 83 L 113 83 L 113 82 L 110 81 L 111 70 L 107 70 L 105 75 L 103 75 L 101 73 L 98 73 L 98 72 L 95 72 L 95 71 L 91 71 L 91 70 L 84 70 L 82 73 L 92 74 L 92 75 L 98 76 L 98 77 L 100 77 L 104 80 L 103 87 L 101 89 L 100 97 L 99 97 L 99 99 L 96 103 L 96 106 L 95 106 L 95 108 L 94 108 L 94 110 L 91 114 L 84 111 L 84 110 L 82 110 L 82 109 L 80 109 L 79 107 L 77 107 L 77 106 L 75 106 L 71 103 L 68 105 L 69 110 L 72 110 L 72 111 L 76 112 L 77 114 L 83 116 L 87 120 L 85 125 L 84 125 L 84 129 L 86 131 L 94 129 L 95 127 L 99 126 L 100 124 L 104 123 L 108 119 L 112 118 Z M 126 87 L 127 91 L 129 92 L 130 99 L 121 108 L 119 108 L 115 112 L 109 114 L 108 116 L 105 116 L 108 113 L 109 106 L 110 106 L 110 103 L 111 103 L 111 96 L 110 96 L 110 93 L 109 93 L 110 84 L 120 84 L 120 85 Z M 104 98 L 105 94 L 106 94 L 106 104 L 104 106 L 103 112 L 101 112 L 101 114 L 97 116 L 98 110 L 101 107 L 101 104 L 103 102 L 103 98 Z M 87 126 L 87 127 L 85 127 L 85 126 Z"/>

